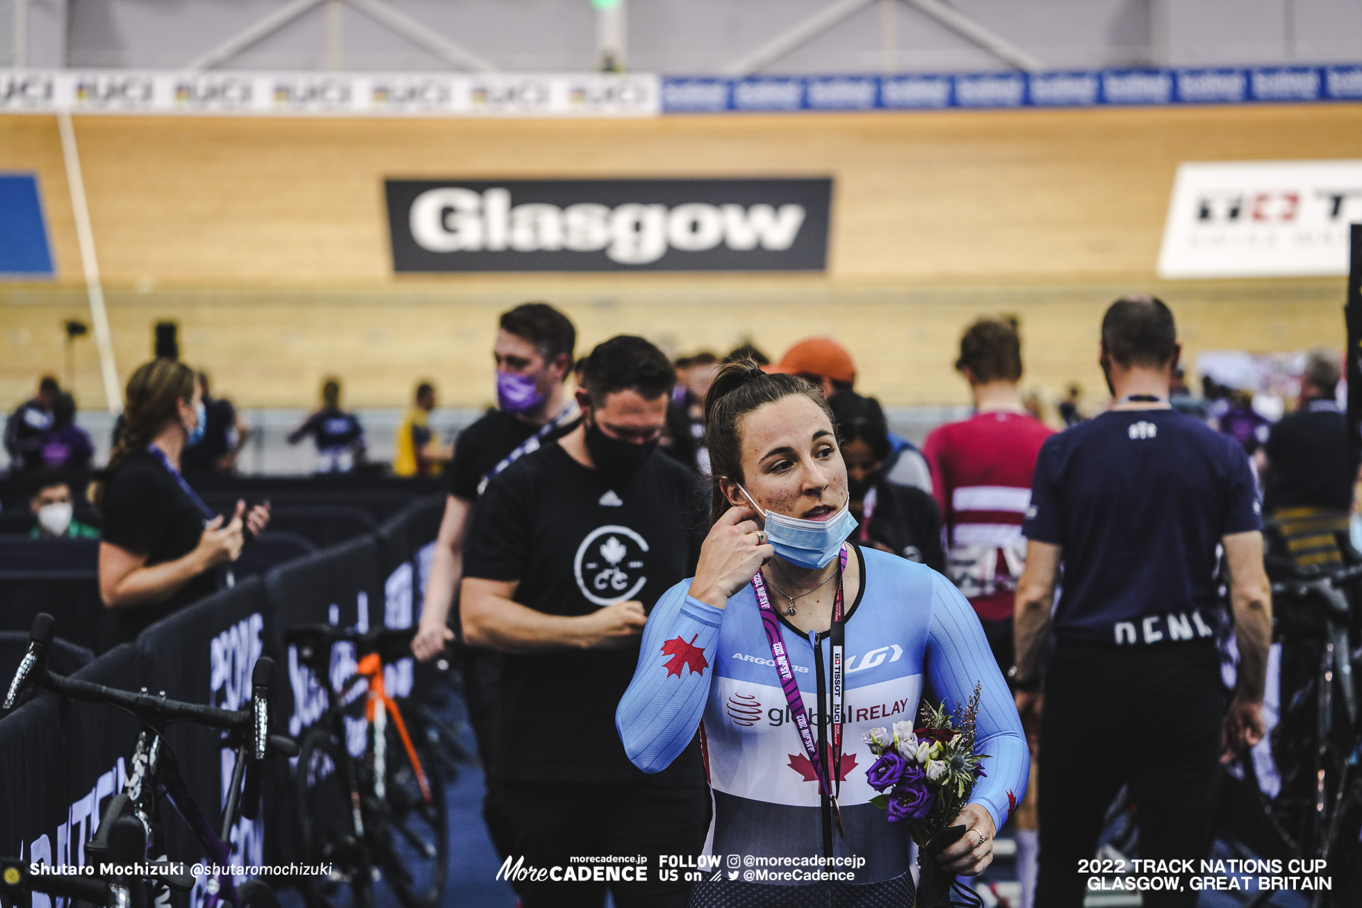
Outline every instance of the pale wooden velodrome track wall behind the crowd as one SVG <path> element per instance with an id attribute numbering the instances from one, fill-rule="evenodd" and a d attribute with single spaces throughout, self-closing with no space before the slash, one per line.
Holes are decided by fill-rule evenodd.
<path id="1" fill-rule="evenodd" d="M 430 377 L 449 404 L 490 399 L 496 313 L 546 298 L 583 347 L 644 334 L 669 351 L 801 336 L 846 343 L 888 404 L 959 403 L 960 329 L 1020 319 L 1027 384 L 1100 391 L 1096 323 L 1154 290 L 1200 348 L 1340 347 L 1343 279 L 1154 278 L 1182 161 L 1350 158 L 1362 106 L 706 116 L 662 120 L 79 117 L 95 245 L 123 377 L 151 323 L 242 406 L 302 406 L 328 373 L 391 406 Z M 86 317 L 56 123 L 0 117 L 0 170 L 37 172 L 57 279 L 0 285 L 0 403 L 63 366 Z M 384 177 L 835 177 L 825 275 L 396 278 Z M 102 391 L 78 344 L 82 406 Z"/>

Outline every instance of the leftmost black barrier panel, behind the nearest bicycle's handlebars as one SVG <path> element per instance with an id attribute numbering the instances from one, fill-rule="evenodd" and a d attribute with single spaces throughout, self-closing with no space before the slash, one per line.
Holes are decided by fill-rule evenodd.
<path id="1" fill-rule="evenodd" d="M 128 686 L 139 677 L 138 649 L 114 647 L 75 677 Z M 0 851 L 25 860 L 83 866 L 84 843 L 106 799 L 121 788 L 136 739 L 138 721 L 127 713 L 49 693 L 5 716 L 0 721 Z"/>

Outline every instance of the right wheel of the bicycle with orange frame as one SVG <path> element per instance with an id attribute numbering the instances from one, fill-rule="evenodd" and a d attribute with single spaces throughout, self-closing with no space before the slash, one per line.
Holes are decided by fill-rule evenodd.
<path id="1" fill-rule="evenodd" d="M 437 760 L 426 745 L 425 730 L 409 726 L 411 743 L 425 771 L 430 794 L 426 799 L 396 723 L 385 724 L 387 796 L 377 810 L 377 839 L 385 858 L 385 877 L 406 908 L 430 908 L 440 900 L 449 859 L 444 780 L 436 771 Z"/>

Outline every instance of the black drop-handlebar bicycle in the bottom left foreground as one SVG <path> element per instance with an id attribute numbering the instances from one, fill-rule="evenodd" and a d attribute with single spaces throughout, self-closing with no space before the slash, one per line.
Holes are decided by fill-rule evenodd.
<path id="1" fill-rule="evenodd" d="M 218 908 L 225 901 L 236 908 L 278 908 L 274 890 L 264 882 L 249 879 L 238 888 L 234 885 L 232 874 L 221 870 L 232 863 L 230 849 L 225 843 L 230 840 L 230 830 L 236 826 L 237 820 L 240 817 L 253 820 L 259 813 L 263 761 L 274 754 L 291 757 L 298 753 L 297 745 L 290 738 L 270 734 L 270 686 L 274 681 L 274 660 L 267 656 L 256 660 L 251 677 L 249 705 L 227 711 L 170 700 L 165 692 L 151 694 L 146 687 L 133 693 L 53 674 L 46 667 L 53 623 L 52 615 L 46 613 L 34 618 L 29 632 L 29 651 L 19 663 L 10 685 L 4 708 L 12 709 L 31 696 L 37 687 L 44 687 L 71 700 L 106 704 L 123 709 L 138 719 L 142 726 L 124 790 L 110 798 L 101 814 L 95 836 L 86 844 L 86 855 L 90 856 L 91 863 L 109 862 L 112 855 L 123 855 L 124 862 L 158 863 L 148 862 L 148 856 L 165 854 L 159 802 L 166 799 L 193 832 L 207 859 L 219 867 L 204 883 L 204 908 Z M 225 731 L 226 745 L 236 751 L 227 803 L 222 809 L 221 834 L 212 829 L 203 810 L 193 800 L 180 775 L 174 754 L 163 742 L 165 728 L 180 721 L 193 721 Z M 7 866 L 12 863 L 7 862 Z M 20 877 L 23 875 L 20 874 Z M 86 882 L 93 881 L 87 879 Z M 105 882 L 118 890 L 114 893 L 118 908 L 142 908 L 154 903 L 162 889 L 188 890 L 193 886 L 195 879 L 188 874 L 166 873 L 142 879 L 108 879 Z M 76 897 L 84 898 L 84 896 Z"/>

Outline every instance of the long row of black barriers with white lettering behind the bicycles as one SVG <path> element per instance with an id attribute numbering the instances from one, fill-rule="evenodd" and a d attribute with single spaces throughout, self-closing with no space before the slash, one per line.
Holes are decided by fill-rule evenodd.
<path id="1" fill-rule="evenodd" d="M 406 626 L 414 621 L 426 573 L 421 564 L 429 564 L 443 506 L 444 496 L 409 504 L 376 534 L 276 566 L 263 579 L 240 580 L 151 625 L 136 644 L 110 649 L 79 677 L 230 709 L 249 697 L 256 658 L 270 655 L 278 664 L 271 697 L 275 731 L 297 738 L 326 708 L 320 683 L 347 677 L 354 651 L 336 644 L 331 678 L 317 679 L 282 644 L 283 632 L 298 623 L 364 629 L 373 622 Z M 76 630 L 57 618 L 59 637 L 69 638 Z M 410 678 L 410 660 L 390 667 L 390 690 L 405 693 Z M 0 681 L 8 685 L 8 678 Z M 89 818 L 98 817 L 102 802 L 121 787 L 135 741 L 136 721 L 124 713 L 48 693 L 0 719 L 0 855 L 80 863 L 83 843 L 94 832 Z M 183 724 L 168 730 L 165 741 L 195 800 L 217 821 L 232 760 L 219 747 L 219 732 Z M 173 811 L 163 814 L 170 858 L 200 856 Z M 242 821 L 229 844 L 245 864 L 300 856 L 287 760 L 268 761 L 262 818 Z"/>

